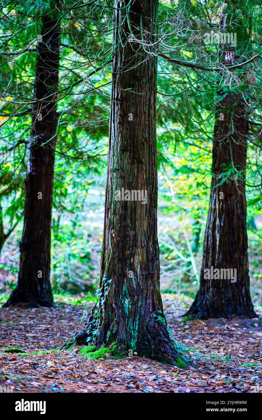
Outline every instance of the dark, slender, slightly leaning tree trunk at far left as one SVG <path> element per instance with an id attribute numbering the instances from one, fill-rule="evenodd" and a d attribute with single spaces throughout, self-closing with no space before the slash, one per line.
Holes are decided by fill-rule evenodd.
<path id="1" fill-rule="evenodd" d="M 50 306 L 50 232 L 57 129 L 60 29 L 57 10 L 42 18 L 37 43 L 29 158 L 26 173 L 24 230 L 20 242 L 18 284 L 7 304 Z M 45 98 L 45 99 L 44 99 Z"/>

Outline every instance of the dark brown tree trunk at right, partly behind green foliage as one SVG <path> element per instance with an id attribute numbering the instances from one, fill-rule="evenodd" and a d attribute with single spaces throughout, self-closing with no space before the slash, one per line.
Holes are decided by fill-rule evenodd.
<path id="1" fill-rule="evenodd" d="M 252 318 L 256 315 L 249 292 L 245 195 L 249 125 L 246 112 L 246 104 L 233 93 L 228 93 L 217 107 L 213 179 L 200 286 L 187 312 L 196 318 L 231 318 L 233 315 Z M 219 185 L 225 173 L 229 178 Z M 219 276 L 214 274 L 213 279 L 212 267 L 213 271 L 220 270 Z M 223 271 L 221 276 L 221 269 L 232 269 L 229 279 L 229 271 L 227 274 Z"/>

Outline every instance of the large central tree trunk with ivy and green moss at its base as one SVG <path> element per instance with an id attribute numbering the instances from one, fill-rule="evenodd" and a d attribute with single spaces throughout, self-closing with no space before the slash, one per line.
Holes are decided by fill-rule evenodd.
<path id="1" fill-rule="evenodd" d="M 156 46 L 143 48 L 136 40 L 143 36 L 145 43 L 156 41 L 158 0 L 135 0 L 129 11 L 123 8 L 127 4 L 114 4 L 114 45 L 119 45 L 112 66 L 99 302 L 75 339 L 98 348 L 115 342 L 138 355 L 179 364 L 159 290 Z M 122 201 L 116 194 L 121 196 L 122 189 L 143 190 L 147 199 Z M 129 198 L 128 192 L 125 196 Z"/>

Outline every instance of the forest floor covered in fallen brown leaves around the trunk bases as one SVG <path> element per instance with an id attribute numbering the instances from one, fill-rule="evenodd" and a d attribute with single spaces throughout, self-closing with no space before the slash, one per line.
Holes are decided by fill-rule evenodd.
<path id="1" fill-rule="evenodd" d="M 56 298 L 52 308 L 1 308 L 0 386 L 48 393 L 245 393 L 259 391 L 260 386 L 261 392 L 261 307 L 255 307 L 259 318 L 251 320 L 192 321 L 181 316 L 191 301 L 182 294 L 163 294 L 172 335 L 188 348 L 194 362 L 185 369 L 139 355 L 115 359 L 106 354 L 104 360 L 92 360 L 79 347 L 58 352 L 57 347 L 81 328 L 85 307 L 76 299 Z"/>

